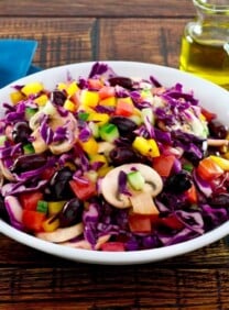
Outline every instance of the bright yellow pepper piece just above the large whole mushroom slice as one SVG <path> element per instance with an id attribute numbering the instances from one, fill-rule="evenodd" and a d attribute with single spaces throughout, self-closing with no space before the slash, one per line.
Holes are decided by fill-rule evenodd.
<path id="1" fill-rule="evenodd" d="M 160 156 L 159 146 L 153 139 L 144 139 L 143 136 L 137 136 L 132 143 L 132 146 L 139 151 L 143 156 L 157 157 Z"/>

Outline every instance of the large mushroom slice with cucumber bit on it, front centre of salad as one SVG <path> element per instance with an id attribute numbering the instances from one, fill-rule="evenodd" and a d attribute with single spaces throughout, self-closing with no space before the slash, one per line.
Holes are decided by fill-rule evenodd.
<path id="1" fill-rule="evenodd" d="M 139 170 L 145 180 L 142 190 L 130 189 L 130 196 L 120 195 L 118 191 L 118 178 L 120 171 L 127 174 Z M 151 167 L 143 164 L 126 164 L 110 170 L 101 181 L 101 193 L 105 199 L 113 207 L 124 209 L 133 208 L 133 212 L 141 214 L 159 213 L 153 198 L 156 197 L 163 188 L 161 176 Z"/>

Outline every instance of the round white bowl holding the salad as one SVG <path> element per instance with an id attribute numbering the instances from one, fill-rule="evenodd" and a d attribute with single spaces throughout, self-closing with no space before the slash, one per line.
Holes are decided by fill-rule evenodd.
<path id="1" fill-rule="evenodd" d="M 181 82 L 184 86 L 184 90 L 193 90 L 195 98 L 200 100 L 203 107 L 217 113 L 218 119 L 222 123 L 228 124 L 229 93 L 227 90 L 174 68 L 133 62 L 105 63 L 110 65 L 120 76 L 149 78 L 153 75 L 162 85 L 167 87 Z M 47 88 L 53 88 L 57 82 L 65 80 L 67 73 L 74 78 L 79 76 L 87 77 L 92 64 L 94 63 L 81 63 L 46 69 L 22 78 L 12 85 L 42 81 Z M 10 102 L 9 95 L 12 91 L 12 85 L 0 90 L 1 103 Z M 63 258 L 94 264 L 124 265 L 165 259 L 206 246 L 229 234 L 229 222 L 186 242 L 160 248 L 131 252 L 96 252 L 57 245 L 20 232 L 2 220 L 0 220 L 0 232 L 22 244 Z"/>

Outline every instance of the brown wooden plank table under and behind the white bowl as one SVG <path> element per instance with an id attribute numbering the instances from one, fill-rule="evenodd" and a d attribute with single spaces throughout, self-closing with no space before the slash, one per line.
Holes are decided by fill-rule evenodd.
<path id="1" fill-rule="evenodd" d="M 190 0 L 1 0 L 0 36 L 35 38 L 48 68 L 124 59 L 178 66 Z M 0 309 L 229 309 L 229 246 L 221 240 L 137 266 L 73 263 L 0 235 Z"/>

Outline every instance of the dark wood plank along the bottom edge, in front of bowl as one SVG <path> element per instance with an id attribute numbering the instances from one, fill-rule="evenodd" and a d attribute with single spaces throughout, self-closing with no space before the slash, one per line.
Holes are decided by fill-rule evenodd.
<path id="1" fill-rule="evenodd" d="M 59 309 L 68 302 L 77 302 L 77 309 L 227 309 L 228 278 L 228 269 L 167 269 L 149 265 L 4 268 L 0 274 L 0 306 L 17 300 L 19 307 L 26 303 L 43 308 L 52 302 L 58 303 Z M 121 297 L 118 302 L 115 296 Z"/>

